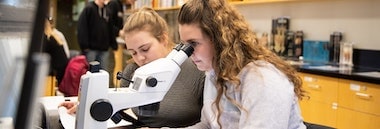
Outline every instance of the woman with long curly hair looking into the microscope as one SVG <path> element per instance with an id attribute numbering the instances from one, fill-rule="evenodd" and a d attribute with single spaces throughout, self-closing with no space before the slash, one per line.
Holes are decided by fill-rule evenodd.
<path id="1" fill-rule="evenodd" d="M 178 15 L 180 39 L 206 71 L 201 122 L 190 129 L 305 129 L 296 70 L 259 44 L 225 0 L 188 0 Z"/>

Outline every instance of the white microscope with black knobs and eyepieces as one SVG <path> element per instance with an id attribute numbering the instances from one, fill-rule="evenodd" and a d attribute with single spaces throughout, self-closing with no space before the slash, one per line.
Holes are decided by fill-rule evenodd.
<path id="1" fill-rule="evenodd" d="M 193 51 L 190 44 L 178 44 L 165 58 L 136 69 L 127 88 L 108 88 L 109 74 L 99 68 L 98 62 L 91 62 L 80 81 L 76 129 L 106 129 L 108 119 L 120 121 L 116 117 L 119 112 L 160 102 L 177 78 L 180 65 Z"/>

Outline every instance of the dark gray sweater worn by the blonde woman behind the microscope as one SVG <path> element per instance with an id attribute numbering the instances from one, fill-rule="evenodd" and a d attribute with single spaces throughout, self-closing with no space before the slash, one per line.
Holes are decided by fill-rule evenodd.
<path id="1" fill-rule="evenodd" d="M 138 65 L 128 64 L 123 77 L 132 79 Z M 172 87 L 160 102 L 158 114 L 152 117 L 138 116 L 137 108 L 133 112 L 148 127 L 186 127 L 200 121 L 203 104 L 203 86 L 205 74 L 197 69 L 190 59 L 181 65 L 181 72 Z M 129 86 L 129 82 L 121 80 L 121 86 Z"/>

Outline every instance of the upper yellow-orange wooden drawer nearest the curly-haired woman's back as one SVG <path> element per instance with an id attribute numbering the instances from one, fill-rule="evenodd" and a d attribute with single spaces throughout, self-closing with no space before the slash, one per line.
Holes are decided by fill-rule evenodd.
<path id="1" fill-rule="evenodd" d="M 300 76 L 303 80 L 303 89 L 307 91 L 310 100 L 325 103 L 337 102 L 338 79 L 305 73 L 300 73 Z"/>

